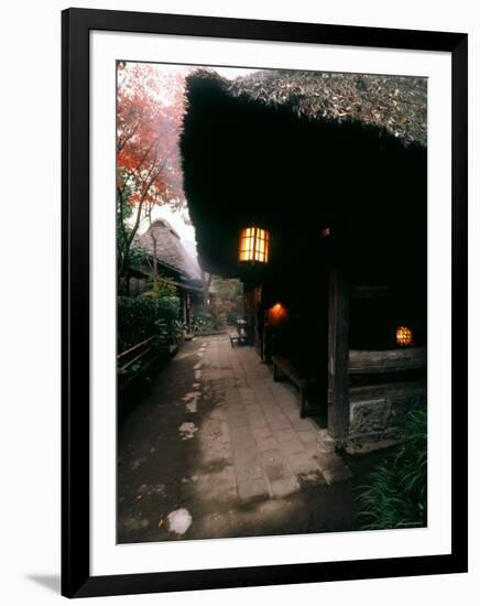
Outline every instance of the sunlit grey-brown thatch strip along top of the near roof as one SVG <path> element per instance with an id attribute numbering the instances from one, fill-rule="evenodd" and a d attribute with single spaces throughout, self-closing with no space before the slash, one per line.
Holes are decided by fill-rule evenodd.
<path id="1" fill-rule="evenodd" d="M 297 117 L 358 121 L 385 129 L 406 145 L 427 144 L 427 79 L 299 71 L 261 71 L 232 82 L 212 71 L 192 77 L 215 79 L 232 97 L 288 107 Z"/>

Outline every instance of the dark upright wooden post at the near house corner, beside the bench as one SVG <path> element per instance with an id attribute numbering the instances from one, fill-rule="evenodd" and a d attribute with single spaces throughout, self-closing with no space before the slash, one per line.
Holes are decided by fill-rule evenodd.
<path id="1" fill-rule="evenodd" d="M 339 264 L 330 267 L 328 289 L 328 433 L 334 439 L 348 434 L 348 334 L 350 289 Z"/>

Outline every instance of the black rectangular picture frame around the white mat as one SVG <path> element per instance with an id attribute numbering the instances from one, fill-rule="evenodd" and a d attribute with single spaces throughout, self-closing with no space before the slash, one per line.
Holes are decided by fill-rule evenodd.
<path id="1" fill-rule="evenodd" d="M 85 597 L 467 572 L 467 34 L 86 9 L 63 11 L 62 28 L 62 594 L 67 597 Z M 89 32 L 92 30 L 423 50 L 451 54 L 451 553 L 149 574 L 90 575 Z"/>

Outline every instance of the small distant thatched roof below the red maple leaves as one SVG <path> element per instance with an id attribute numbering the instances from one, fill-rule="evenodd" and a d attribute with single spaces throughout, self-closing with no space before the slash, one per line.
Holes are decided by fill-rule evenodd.
<path id="1" fill-rule="evenodd" d="M 188 255 L 178 234 L 166 219 L 155 220 L 144 234 L 139 236 L 137 242 L 149 255 L 156 255 L 161 264 L 178 272 L 184 279 L 201 280 L 196 259 Z"/>

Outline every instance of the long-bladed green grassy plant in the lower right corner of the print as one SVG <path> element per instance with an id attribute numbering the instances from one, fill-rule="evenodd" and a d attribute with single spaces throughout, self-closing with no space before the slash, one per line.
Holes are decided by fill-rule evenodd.
<path id="1" fill-rule="evenodd" d="M 407 415 L 404 442 L 361 487 L 367 530 L 424 527 L 427 522 L 427 411 Z"/>

